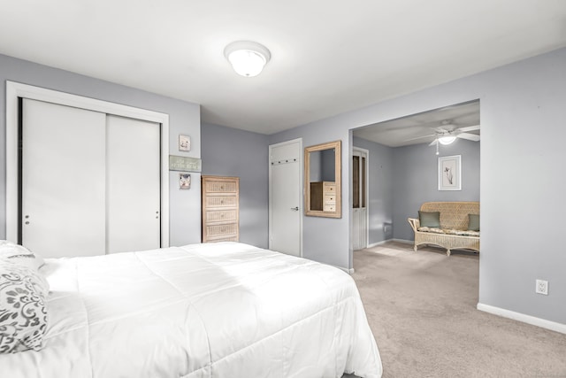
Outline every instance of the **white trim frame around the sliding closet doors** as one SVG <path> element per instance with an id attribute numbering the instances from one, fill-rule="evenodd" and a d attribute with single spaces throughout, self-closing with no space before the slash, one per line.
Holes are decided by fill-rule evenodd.
<path id="1" fill-rule="evenodd" d="M 19 98 L 73 106 L 161 124 L 161 247 L 169 246 L 169 115 L 52 89 L 6 81 L 6 239 L 16 243 L 19 232 Z"/>

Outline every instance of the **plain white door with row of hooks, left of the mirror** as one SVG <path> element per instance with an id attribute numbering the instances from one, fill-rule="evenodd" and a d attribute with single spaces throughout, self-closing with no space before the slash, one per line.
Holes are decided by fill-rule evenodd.
<path id="1" fill-rule="evenodd" d="M 302 140 L 273 144 L 269 150 L 269 248 L 300 257 Z"/>

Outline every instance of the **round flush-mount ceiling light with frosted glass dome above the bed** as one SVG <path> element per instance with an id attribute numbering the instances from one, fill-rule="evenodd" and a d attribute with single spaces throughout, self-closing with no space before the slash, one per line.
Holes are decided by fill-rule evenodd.
<path id="1" fill-rule="evenodd" d="M 236 73 L 246 77 L 257 76 L 272 58 L 267 48 L 257 42 L 232 42 L 224 49 L 224 56 Z"/>

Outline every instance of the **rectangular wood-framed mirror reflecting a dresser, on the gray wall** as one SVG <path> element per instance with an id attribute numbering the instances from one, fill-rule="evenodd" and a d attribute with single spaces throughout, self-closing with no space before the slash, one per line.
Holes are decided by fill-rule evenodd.
<path id="1" fill-rule="evenodd" d="M 304 214 L 341 218 L 341 141 L 304 149 Z"/>

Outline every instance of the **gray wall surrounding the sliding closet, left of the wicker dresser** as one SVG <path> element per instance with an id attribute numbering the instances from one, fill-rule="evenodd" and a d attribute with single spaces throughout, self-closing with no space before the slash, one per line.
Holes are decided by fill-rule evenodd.
<path id="1" fill-rule="evenodd" d="M 139 89 L 127 88 L 108 81 L 100 81 L 69 73 L 49 66 L 37 65 L 25 60 L 0 55 L 0 237 L 5 238 L 5 81 L 17 81 L 46 89 L 55 89 L 80 96 L 88 96 L 112 103 L 126 104 L 155 112 L 169 114 L 169 149 L 171 154 L 184 155 L 192 158 L 201 157 L 201 127 L 200 107 L 169 97 L 158 96 Z M 180 152 L 178 135 L 191 137 L 190 152 Z M 200 174 L 191 174 L 193 182 L 200 181 Z M 170 201 L 170 244 L 182 245 L 199 243 L 201 240 L 201 216 L 199 185 L 193 185 L 190 190 L 179 189 L 179 173 L 169 174 Z"/>

